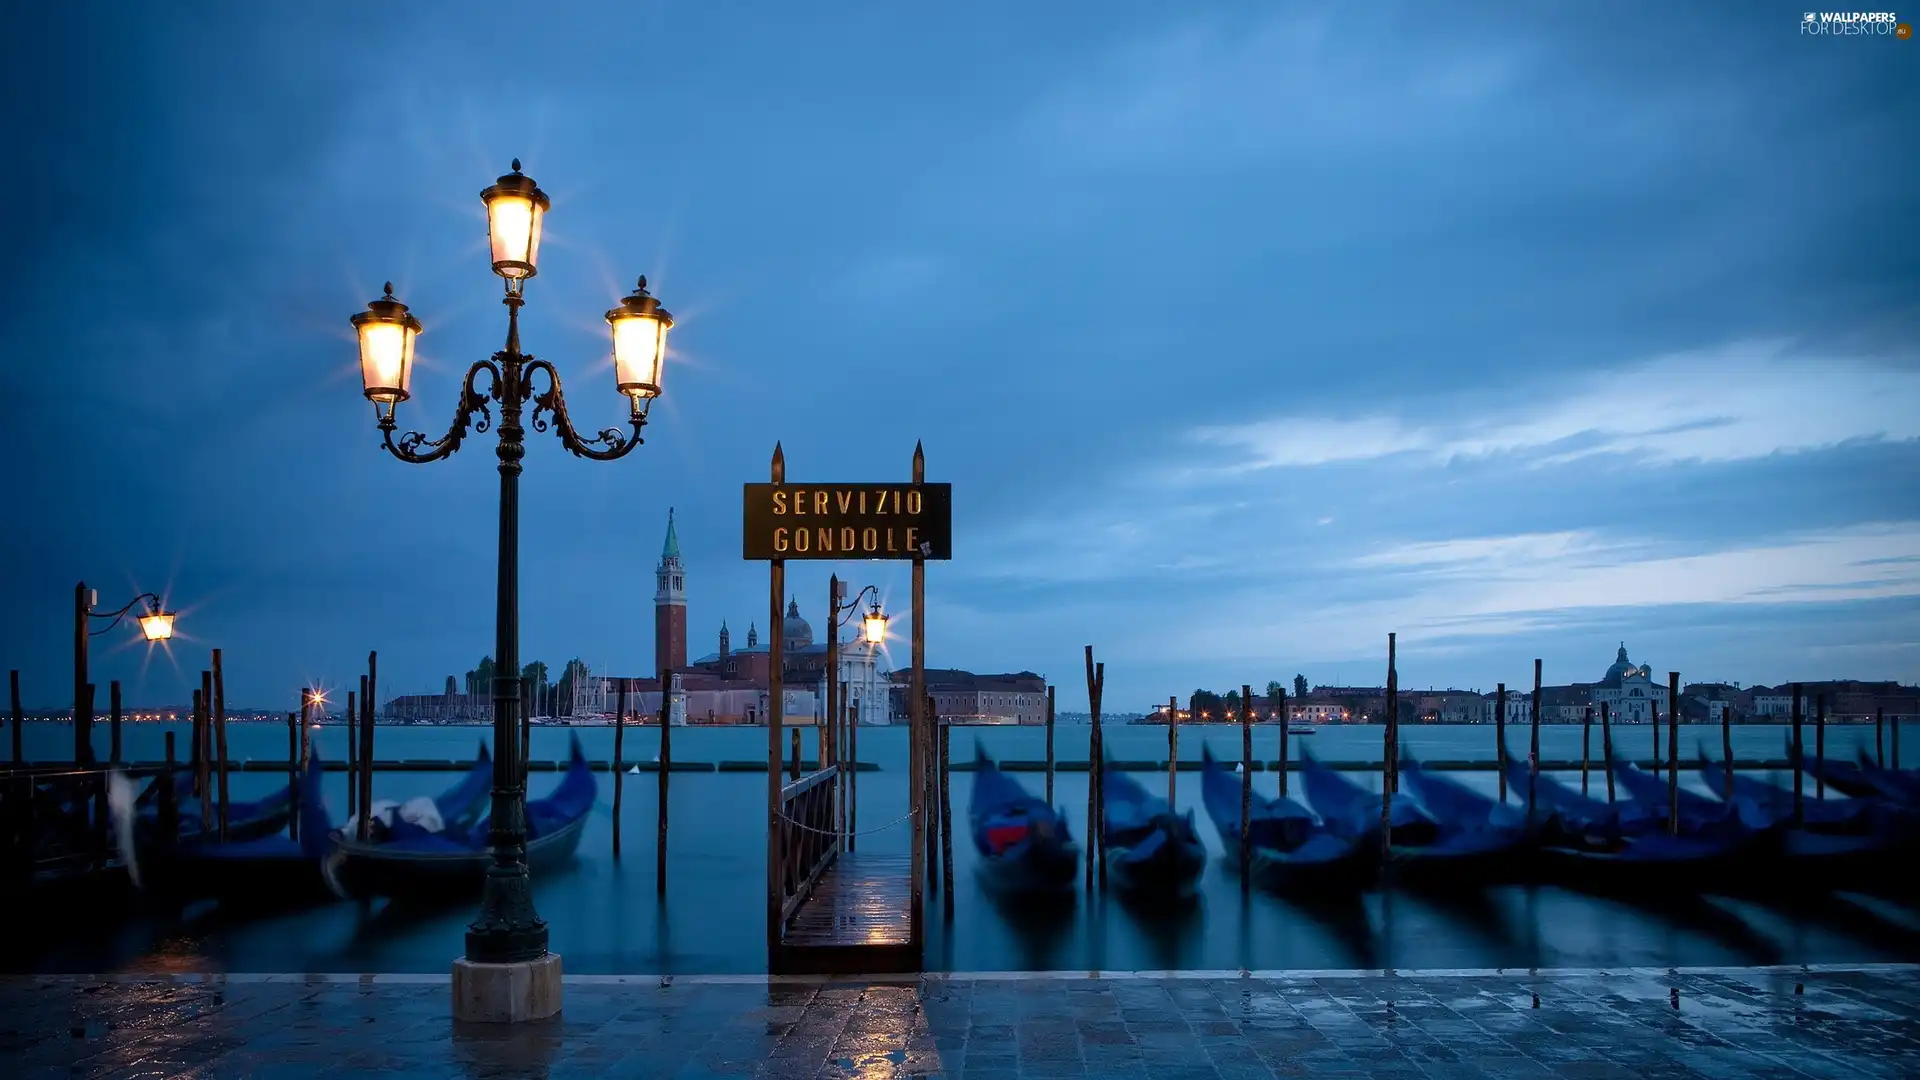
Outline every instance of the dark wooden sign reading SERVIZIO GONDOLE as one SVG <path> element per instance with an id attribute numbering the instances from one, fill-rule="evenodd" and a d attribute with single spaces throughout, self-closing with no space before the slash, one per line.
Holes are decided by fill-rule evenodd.
<path id="1" fill-rule="evenodd" d="M 747 559 L 950 559 L 952 484 L 745 484 Z"/>

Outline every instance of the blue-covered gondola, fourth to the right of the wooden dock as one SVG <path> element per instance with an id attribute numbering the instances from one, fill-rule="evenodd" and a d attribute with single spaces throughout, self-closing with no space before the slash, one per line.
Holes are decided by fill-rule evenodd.
<path id="1" fill-rule="evenodd" d="M 1327 824 L 1348 838 L 1379 846 L 1380 796 L 1300 755 L 1308 799 Z M 1386 865 L 1407 886 L 1478 886 L 1509 880 L 1524 869 L 1526 834 L 1492 822 L 1446 821 L 1413 796 L 1386 798 L 1390 824 Z"/>

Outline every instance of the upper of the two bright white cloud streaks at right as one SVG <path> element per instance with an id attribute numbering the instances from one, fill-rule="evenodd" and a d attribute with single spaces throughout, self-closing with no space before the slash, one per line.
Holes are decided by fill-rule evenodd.
<path id="1" fill-rule="evenodd" d="M 1860 357 L 1741 344 L 1678 354 L 1507 394 L 1442 394 L 1396 413 L 1292 415 L 1215 425 L 1194 440 L 1233 461 L 1177 469 L 1196 480 L 1260 469 L 1400 457 L 1415 465 L 1523 455 L 1644 463 L 1740 461 L 1853 440 L 1920 438 L 1920 371 Z"/>

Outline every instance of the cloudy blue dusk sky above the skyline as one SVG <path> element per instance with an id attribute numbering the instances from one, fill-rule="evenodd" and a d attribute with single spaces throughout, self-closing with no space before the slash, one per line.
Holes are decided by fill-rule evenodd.
<path id="1" fill-rule="evenodd" d="M 490 444 L 378 450 L 348 315 L 499 348 L 478 190 L 553 196 L 524 344 L 618 423 L 601 313 L 676 313 L 647 446 L 534 436 L 522 653 L 651 675 L 766 626 L 739 486 L 954 484 L 929 663 L 1194 686 L 1920 678 L 1920 44 L 1778 4 L 198 4 L 10 15 L 0 665 L 163 590 L 290 707 L 492 648 Z M 19 465 L 25 463 L 25 465 Z M 13 517 L 17 513 L 17 517 Z M 906 571 L 843 567 L 906 607 Z M 814 623 L 828 565 L 789 580 Z M 904 619 L 895 625 L 904 632 Z M 739 638 L 735 638 L 739 640 Z M 897 650 L 904 663 L 904 648 Z"/>

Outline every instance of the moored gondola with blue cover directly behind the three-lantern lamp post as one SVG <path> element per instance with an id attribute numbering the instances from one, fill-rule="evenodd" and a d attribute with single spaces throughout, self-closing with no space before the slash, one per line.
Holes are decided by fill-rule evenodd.
<path id="1" fill-rule="evenodd" d="M 572 761 L 561 784 L 543 799 L 526 803 L 526 867 L 540 874 L 572 861 L 586 830 L 599 784 L 593 767 L 572 736 Z M 396 899 L 453 899 L 478 894 L 493 865 L 488 849 L 492 817 L 467 830 L 428 832 L 396 826 L 384 842 L 361 842 L 346 830 L 328 836 L 323 872 L 342 897 L 386 896 Z"/>

